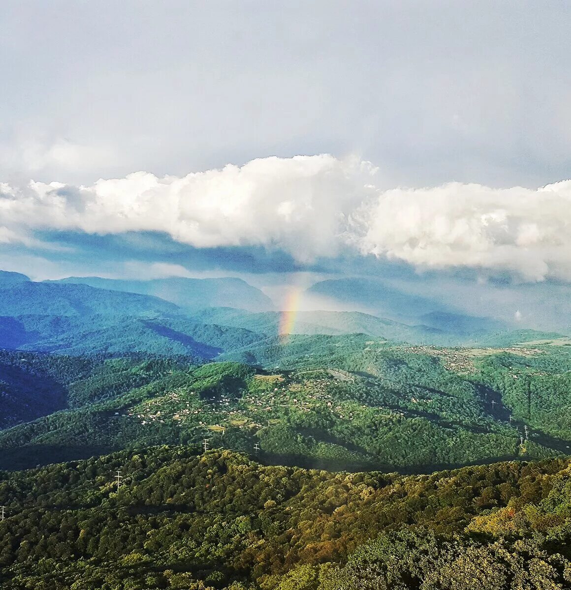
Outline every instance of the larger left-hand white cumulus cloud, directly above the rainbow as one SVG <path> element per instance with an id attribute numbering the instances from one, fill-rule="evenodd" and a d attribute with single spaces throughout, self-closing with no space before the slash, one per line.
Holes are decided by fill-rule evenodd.
<path id="1" fill-rule="evenodd" d="M 347 215 L 374 194 L 374 168 L 328 155 L 265 158 L 241 168 L 157 178 L 136 172 L 93 186 L 31 182 L 0 192 L 0 215 L 35 228 L 159 231 L 195 247 L 265 245 L 298 260 L 335 255 Z"/>

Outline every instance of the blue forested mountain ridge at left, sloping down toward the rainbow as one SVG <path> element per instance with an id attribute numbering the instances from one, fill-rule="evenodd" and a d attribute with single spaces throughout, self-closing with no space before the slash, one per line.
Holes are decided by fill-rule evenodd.
<path id="1" fill-rule="evenodd" d="M 240 327 L 192 321 L 159 297 L 0 273 L 0 348 L 213 359 L 264 337 Z"/>

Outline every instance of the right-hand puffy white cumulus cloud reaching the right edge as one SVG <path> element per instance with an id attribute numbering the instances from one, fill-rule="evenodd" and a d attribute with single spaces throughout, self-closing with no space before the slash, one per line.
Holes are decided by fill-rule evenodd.
<path id="1" fill-rule="evenodd" d="M 536 190 L 449 183 L 393 189 L 360 214 L 361 251 L 416 266 L 571 278 L 571 181 Z"/>

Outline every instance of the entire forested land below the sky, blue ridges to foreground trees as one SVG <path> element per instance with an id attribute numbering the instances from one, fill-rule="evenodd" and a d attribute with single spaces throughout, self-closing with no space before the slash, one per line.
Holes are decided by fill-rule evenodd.
<path id="1" fill-rule="evenodd" d="M 23 303 L 0 297 L 2 588 L 571 585 L 566 337 L 412 345 L 386 335 L 430 329 L 353 313 L 277 336 L 272 312 L 18 281 Z"/>

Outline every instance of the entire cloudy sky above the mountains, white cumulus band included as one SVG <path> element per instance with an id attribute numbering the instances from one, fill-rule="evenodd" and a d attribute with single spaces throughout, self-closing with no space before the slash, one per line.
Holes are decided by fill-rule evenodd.
<path id="1" fill-rule="evenodd" d="M 6 0 L 0 24 L 6 270 L 571 280 L 567 2 Z"/>

